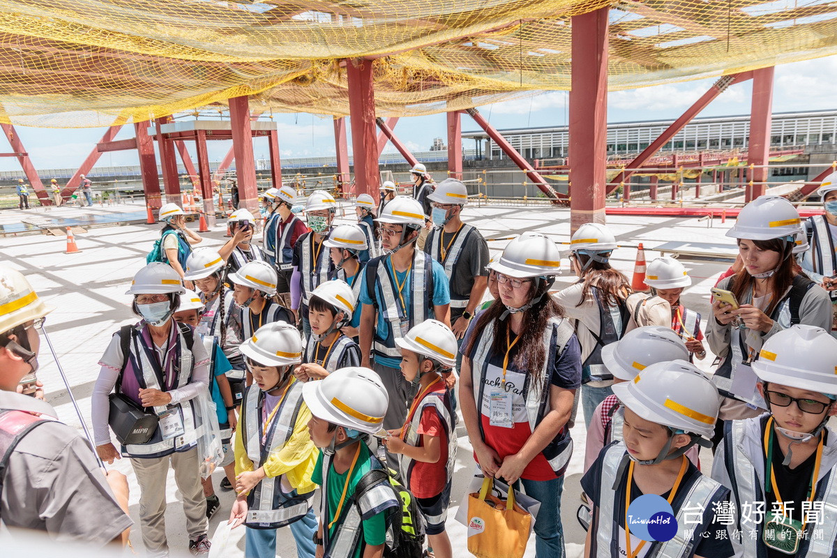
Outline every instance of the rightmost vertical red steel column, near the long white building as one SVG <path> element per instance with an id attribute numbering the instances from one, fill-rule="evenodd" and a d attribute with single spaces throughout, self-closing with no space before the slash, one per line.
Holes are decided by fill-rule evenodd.
<path id="1" fill-rule="evenodd" d="M 755 165 L 750 179 L 749 202 L 767 190 L 770 161 L 770 124 L 773 114 L 773 66 L 752 71 L 752 105 L 750 108 L 750 142 L 747 163 Z"/>

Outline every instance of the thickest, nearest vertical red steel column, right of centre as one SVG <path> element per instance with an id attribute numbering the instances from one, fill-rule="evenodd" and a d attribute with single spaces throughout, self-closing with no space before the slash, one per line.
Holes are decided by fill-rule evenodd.
<path id="1" fill-rule="evenodd" d="M 573 16 L 570 232 L 604 223 L 608 141 L 608 8 Z"/>

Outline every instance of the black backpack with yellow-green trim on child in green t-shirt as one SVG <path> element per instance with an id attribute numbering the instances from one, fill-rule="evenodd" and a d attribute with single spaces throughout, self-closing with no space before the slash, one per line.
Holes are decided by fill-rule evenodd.
<path id="1" fill-rule="evenodd" d="M 387 527 L 392 528 L 393 540 L 387 540 L 383 555 L 386 558 L 420 558 L 424 555 L 424 517 L 419 503 L 403 485 L 397 472 L 388 467 L 373 468 L 357 481 L 354 500 L 357 502 L 363 494 L 379 484 L 387 484 L 401 504 L 400 514 L 397 511 L 387 514 Z"/>

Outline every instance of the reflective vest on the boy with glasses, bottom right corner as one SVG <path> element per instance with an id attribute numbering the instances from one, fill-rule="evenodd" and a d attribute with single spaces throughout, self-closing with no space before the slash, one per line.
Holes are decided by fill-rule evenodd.
<path id="1" fill-rule="evenodd" d="M 757 514 L 742 514 L 742 504 L 766 502 L 764 494 L 764 447 L 763 434 L 767 415 L 748 418 L 741 421 L 729 421 L 724 428 L 723 467 L 732 485 L 732 503 L 735 504 L 737 525 L 735 528 L 742 532 L 741 540 L 732 539 L 737 556 L 752 558 L 766 558 L 768 551 L 762 541 L 764 520 L 759 520 Z M 814 491 L 814 502 L 822 502 L 823 515 L 817 522 L 810 522 L 807 535 L 800 537 L 799 549 L 794 556 L 798 558 L 834 558 L 837 557 L 837 447 L 832 438 L 834 432 L 829 430 L 828 444 L 823 448 L 822 465 L 819 469 Z M 714 469 L 714 467 L 713 467 Z M 810 479 L 798 479 L 800 483 L 808 483 Z M 801 506 L 800 503 L 796 505 Z M 765 503 L 765 511 L 769 514 L 771 506 Z M 800 508 L 797 508 L 800 509 Z M 756 515 L 754 517 L 754 515 Z M 767 517 L 767 515 L 765 515 Z M 733 527 L 730 527 L 732 530 Z M 813 530 L 822 530 L 821 540 L 815 540 Z M 750 533 L 755 531 L 755 539 Z M 816 537 L 819 539 L 819 537 Z M 742 548 L 743 547 L 743 548 Z M 743 553 L 742 553 L 743 551 Z"/>

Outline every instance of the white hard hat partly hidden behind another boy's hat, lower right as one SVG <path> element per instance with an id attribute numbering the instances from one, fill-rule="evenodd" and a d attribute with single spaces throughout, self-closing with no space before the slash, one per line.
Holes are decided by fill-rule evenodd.
<path id="1" fill-rule="evenodd" d="M 658 362 L 689 360 L 686 343 L 675 330 L 645 325 L 602 347 L 602 363 L 619 380 L 633 380 L 640 371 Z"/>

